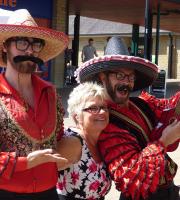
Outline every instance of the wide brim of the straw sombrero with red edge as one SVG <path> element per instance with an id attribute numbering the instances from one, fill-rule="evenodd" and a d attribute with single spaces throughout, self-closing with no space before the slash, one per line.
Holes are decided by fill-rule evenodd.
<path id="1" fill-rule="evenodd" d="M 39 53 L 44 62 L 56 57 L 68 46 L 68 37 L 60 31 L 39 26 L 23 26 L 0 24 L 0 66 L 6 67 L 2 61 L 3 42 L 11 37 L 33 37 L 45 40 L 45 46 Z"/>

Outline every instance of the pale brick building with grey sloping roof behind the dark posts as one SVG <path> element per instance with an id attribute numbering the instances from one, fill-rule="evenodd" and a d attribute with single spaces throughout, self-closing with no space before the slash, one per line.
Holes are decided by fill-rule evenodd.
<path id="1" fill-rule="evenodd" d="M 72 48 L 73 40 L 73 16 L 69 18 L 69 37 Z M 132 45 L 132 25 L 81 17 L 80 21 L 80 40 L 79 40 L 79 62 L 81 65 L 81 51 L 84 45 L 88 43 L 89 38 L 94 39 L 99 56 L 104 54 L 104 47 L 107 38 L 111 36 L 120 36 L 127 47 Z M 144 50 L 144 28 L 139 31 L 139 56 L 143 57 Z M 155 62 L 156 30 L 153 29 L 152 36 L 152 62 Z M 166 71 L 167 79 L 180 79 L 180 34 L 168 31 L 160 31 L 158 66 L 160 70 Z M 170 71 L 171 69 L 171 71 Z M 168 80 L 170 81 L 170 80 Z"/>

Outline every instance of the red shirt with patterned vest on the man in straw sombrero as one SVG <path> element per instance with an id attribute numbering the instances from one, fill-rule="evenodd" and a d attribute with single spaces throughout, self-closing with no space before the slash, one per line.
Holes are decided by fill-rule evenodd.
<path id="1" fill-rule="evenodd" d="M 63 133 L 64 110 L 55 88 L 32 75 L 34 108 L 0 75 L 0 189 L 33 193 L 57 182 L 57 166 L 46 163 L 27 169 L 27 155 L 55 148 Z"/>

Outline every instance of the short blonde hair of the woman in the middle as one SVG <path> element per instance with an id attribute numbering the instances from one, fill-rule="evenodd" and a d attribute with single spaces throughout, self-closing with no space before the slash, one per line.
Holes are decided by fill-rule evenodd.
<path id="1" fill-rule="evenodd" d="M 105 89 L 101 85 L 93 82 L 79 84 L 69 95 L 67 109 L 69 116 L 75 121 L 74 116 L 81 114 L 88 99 L 97 96 L 101 97 L 102 100 L 107 98 Z"/>

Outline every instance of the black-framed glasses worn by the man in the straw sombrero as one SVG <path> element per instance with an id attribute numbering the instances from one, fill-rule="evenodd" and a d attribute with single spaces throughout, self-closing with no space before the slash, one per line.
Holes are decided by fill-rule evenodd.
<path id="1" fill-rule="evenodd" d="M 31 45 L 31 48 L 35 53 L 39 53 L 45 45 L 45 41 L 39 38 L 33 38 L 31 42 L 27 37 L 14 37 L 10 38 L 9 42 L 10 41 L 16 43 L 16 49 L 19 51 L 26 51 Z"/>

